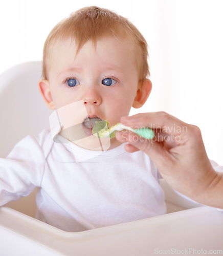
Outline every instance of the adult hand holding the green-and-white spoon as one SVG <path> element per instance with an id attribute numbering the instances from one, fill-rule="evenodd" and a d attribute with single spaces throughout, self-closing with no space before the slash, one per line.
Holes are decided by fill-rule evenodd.
<path id="1" fill-rule="evenodd" d="M 155 133 L 147 140 L 132 132 L 117 132 L 117 140 L 128 143 L 126 151 L 142 150 L 173 189 L 199 203 L 223 208 L 223 176 L 213 169 L 197 126 L 165 112 L 123 117 L 121 122 L 136 129 L 151 127 Z"/>

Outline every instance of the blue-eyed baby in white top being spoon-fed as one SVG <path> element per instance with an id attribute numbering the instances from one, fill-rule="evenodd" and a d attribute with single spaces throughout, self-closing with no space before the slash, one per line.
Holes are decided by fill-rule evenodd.
<path id="1" fill-rule="evenodd" d="M 160 174 L 116 138 L 92 135 L 140 108 L 151 91 L 147 44 L 126 18 L 89 7 L 62 20 L 43 49 L 39 90 L 51 132 L 21 140 L 0 160 L 0 205 L 38 187 L 36 218 L 84 231 L 165 214 Z"/>

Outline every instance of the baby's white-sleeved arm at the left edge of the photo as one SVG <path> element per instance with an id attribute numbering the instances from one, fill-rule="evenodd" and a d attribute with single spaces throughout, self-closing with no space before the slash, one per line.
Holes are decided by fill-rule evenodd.
<path id="1" fill-rule="evenodd" d="M 0 206 L 28 196 L 40 186 L 45 158 L 36 138 L 28 136 L 0 159 Z"/>

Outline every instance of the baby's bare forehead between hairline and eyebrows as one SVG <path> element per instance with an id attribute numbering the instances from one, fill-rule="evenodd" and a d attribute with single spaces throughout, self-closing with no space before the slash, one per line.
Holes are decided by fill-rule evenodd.
<path id="1" fill-rule="evenodd" d="M 123 66 L 127 68 L 133 63 L 138 73 L 140 72 L 140 57 L 135 42 L 129 38 L 117 38 L 113 35 L 106 35 L 95 41 L 87 40 L 81 47 L 72 37 L 55 40 L 49 52 L 48 70 L 56 70 L 59 73 L 60 67 L 62 70 L 69 65 L 85 68 L 87 64 L 93 65 L 93 58 L 95 61 L 101 60 L 100 63 L 114 67 L 113 70 L 119 67 L 121 69 Z"/>

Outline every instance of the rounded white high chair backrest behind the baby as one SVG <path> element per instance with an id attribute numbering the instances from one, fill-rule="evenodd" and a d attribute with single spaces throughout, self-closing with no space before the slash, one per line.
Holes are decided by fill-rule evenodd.
<path id="1" fill-rule="evenodd" d="M 0 74 L 0 157 L 27 135 L 49 127 L 51 111 L 38 92 L 41 61 L 22 63 Z"/>

